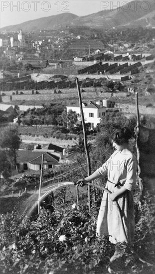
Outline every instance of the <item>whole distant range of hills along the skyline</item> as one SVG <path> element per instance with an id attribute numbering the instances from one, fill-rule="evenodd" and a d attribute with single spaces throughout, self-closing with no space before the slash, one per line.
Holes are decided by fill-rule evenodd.
<path id="1" fill-rule="evenodd" d="M 146 3 L 147 2 L 147 3 Z M 42 17 L 21 24 L 1 28 L 6 31 L 39 31 L 40 29 L 52 29 L 60 25 L 88 26 L 91 28 L 127 27 L 153 27 L 155 26 L 155 1 L 140 0 L 118 5 L 113 10 L 103 10 L 86 16 L 77 16 L 66 12 L 58 15 Z"/>

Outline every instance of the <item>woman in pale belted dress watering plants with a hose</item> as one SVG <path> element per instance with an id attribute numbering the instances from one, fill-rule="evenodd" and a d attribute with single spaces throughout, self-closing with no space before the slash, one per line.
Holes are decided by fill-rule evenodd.
<path id="1" fill-rule="evenodd" d="M 83 186 L 96 178 L 108 175 L 97 221 L 97 235 L 110 235 L 110 241 L 133 243 L 135 233 L 134 200 L 132 190 L 136 184 L 137 158 L 129 150 L 129 139 L 132 134 L 128 128 L 117 130 L 112 135 L 113 147 L 116 151 L 92 175 L 77 182 Z M 118 202 L 123 220 L 120 220 Z M 124 226 L 124 228 L 123 228 Z M 124 232 L 125 229 L 125 232 Z M 126 234 L 126 235 L 125 235 Z"/>

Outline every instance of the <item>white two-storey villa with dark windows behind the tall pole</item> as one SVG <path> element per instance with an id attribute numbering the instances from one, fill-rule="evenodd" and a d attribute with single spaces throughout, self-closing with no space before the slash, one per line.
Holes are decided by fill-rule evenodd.
<path id="1" fill-rule="evenodd" d="M 101 118 L 106 115 L 106 107 L 103 106 L 102 101 L 98 101 L 96 103 L 89 102 L 88 104 L 82 103 L 83 106 L 83 114 L 85 123 L 89 123 L 92 129 L 96 128 L 98 124 L 100 124 Z M 78 115 L 78 125 L 81 122 L 81 114 L 80 114 L 80 107 L 79 104 L 76 103 L 71 106 L 67 106 L 67 113 L 69 110 L 75 111 Z"/>

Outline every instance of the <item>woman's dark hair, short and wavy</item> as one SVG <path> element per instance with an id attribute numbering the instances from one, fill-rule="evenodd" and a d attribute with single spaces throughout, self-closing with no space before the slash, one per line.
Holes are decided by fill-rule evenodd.
<path id="1" fill-rule="evenodd" d="M 117 144 L 123 144 L 129 142 L 129 139 L 132 137 L 132 132 L 128 128 L 123 128 L 121 130 L 116 130 L 111 139 L 116 142 Z"/>

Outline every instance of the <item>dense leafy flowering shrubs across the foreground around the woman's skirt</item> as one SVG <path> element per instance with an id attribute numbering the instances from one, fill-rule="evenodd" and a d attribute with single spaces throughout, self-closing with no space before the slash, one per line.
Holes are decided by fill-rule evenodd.
<path id="1" fill-rule="evenodd" d="M 148 205 L 144 205 L 143 212 L 136 210 L 139 219 L 136 248 L 144 239 L 147 245 L 152 239 L 148 238 L 149 234 L 146 237 L 146 233 L 153 232 L 153 211 L 148 212 L 147 208 Z M 125 243 L 118 243 L 115 248 L 108 236 L 96 238 L 96 210 L 94 206 L 90 215 L 85 206 L 80 210 L 61 208 L 53 213 L 42 209 L 33 221 L 19 217 L 18 213 L 2 215 L 1 272 L 49 274 L 52 270 L 53 274 L 102 274 L 107 273 L 114 251 L 122 248 L 121 261 L 111 262 L 110 267 L 121 268 L 121 273 L 127 274 L 153 273 L 153 268 L 140 263 Z M 147 217 L 150 217 L 149 230 Z M 142 255 L 146 256 L 146 251 L 144 245 Z M 152 258 L 150 262 L 153 262 Z"/>

